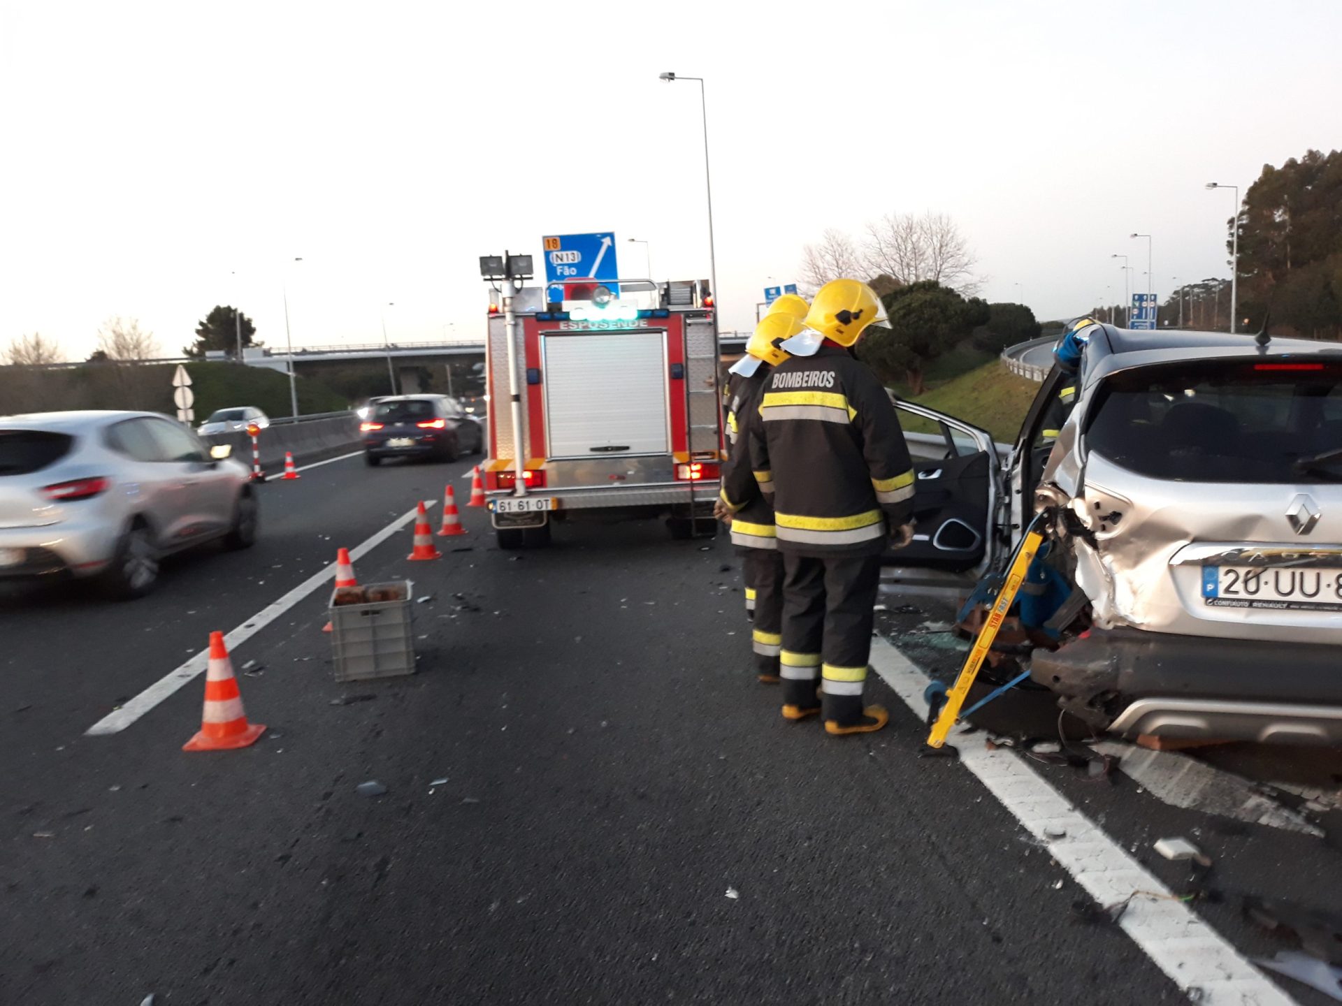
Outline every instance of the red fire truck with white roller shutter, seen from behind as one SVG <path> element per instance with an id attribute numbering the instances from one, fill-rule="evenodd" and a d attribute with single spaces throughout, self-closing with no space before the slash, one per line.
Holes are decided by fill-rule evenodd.
<path id="1" fill-rule="evenodd" d="M 499 546 L 548 545 L 552 522 L 586 518 L 711 533 L 726 455 L 706 284 L 589 280 L 561 302 L 545 294 L 490 306 L 483 469 Z"/>

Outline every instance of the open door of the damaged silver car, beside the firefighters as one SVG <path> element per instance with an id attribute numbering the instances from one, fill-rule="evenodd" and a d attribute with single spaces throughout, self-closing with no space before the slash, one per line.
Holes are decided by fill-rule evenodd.
<path id="1" fill-rule="evenodd" d="M 978 427 L 895 401 L 914 459 L 914 541 L 884 555 L 882 582 L 918 593 L 964 594 L 1001 546 L 1001 459 Z"/>

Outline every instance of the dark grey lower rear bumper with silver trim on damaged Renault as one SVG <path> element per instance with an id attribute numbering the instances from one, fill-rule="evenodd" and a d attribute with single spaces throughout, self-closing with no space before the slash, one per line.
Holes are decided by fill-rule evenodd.
<path id="1" fill-rule="evenodd" d="M 1036 649 L 1031 677 L 1126 736 L 1342 744 L 1342 672 L 1325 644 L 1092 629 Z"/>

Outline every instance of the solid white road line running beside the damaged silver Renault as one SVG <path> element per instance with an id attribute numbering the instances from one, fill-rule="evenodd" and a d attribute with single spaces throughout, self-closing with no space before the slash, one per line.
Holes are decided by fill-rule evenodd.
<path id="1" fill-rule="evenodd" d="M 919 722 L 927 719 L 923 688 L 931 680 L 883 638 L 871 641 L 871 665 Z M 953 735 L 954 736 L 954 735 Z M 1134 897 L 1119 926 L 1190 999 L 1204 1006 L 1292 1006 L 1286 993 L 1245 960 L 1216 930 L 1149 873 L 1090 818 L 1008 748 L 989 751 L 974 734 L 960 763 L 1100 905 L 1134 891 L 1169 897 Z M 1063 838 L 1049 838 L 1066 832 Z M 1198 990 L 1198 991 L 1194 991 Z"/>

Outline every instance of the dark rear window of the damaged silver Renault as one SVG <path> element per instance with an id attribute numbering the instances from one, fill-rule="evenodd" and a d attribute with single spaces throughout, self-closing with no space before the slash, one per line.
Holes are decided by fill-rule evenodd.
<path id="1" fill-rule="evenodd" d="M 1172 482 L 1342 482 L 1342 365 L 1276 358 L 1118 373 L 1091 406 L 1086 445 Z"/>

